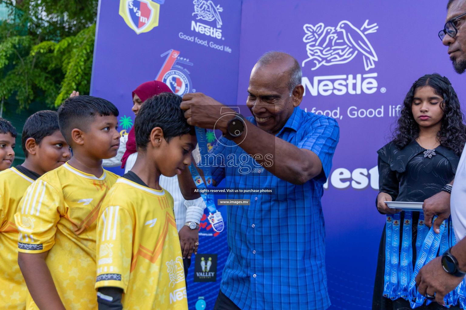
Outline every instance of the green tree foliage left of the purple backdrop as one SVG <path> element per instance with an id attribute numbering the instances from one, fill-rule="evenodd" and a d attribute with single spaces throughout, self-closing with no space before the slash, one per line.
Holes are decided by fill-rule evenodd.
<path id="1" fill-rule="evenodd" d="M 98 0 L 0 0 L 0 99 L 17 111 L 89 93 Z"/>

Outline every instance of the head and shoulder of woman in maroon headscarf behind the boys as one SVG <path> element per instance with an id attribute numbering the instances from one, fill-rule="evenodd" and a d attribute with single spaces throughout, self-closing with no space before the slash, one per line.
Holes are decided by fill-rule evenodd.
<path id="1" fill-rule="evenodd" d="M 160 81 L 149 81 L 145 82 L 133 91 L 133 107 L 131 110 L 137 115 L 139 108 L 142 106 L 146 99 L 151 98 L 154 95 L 158 95 L 161 92 L 172 92 L 170 87 Z M 127 136 L 123 136 L 120 139 L 120 148 L 118 149 L 117 156 L 110 159 L 104 159 L 102 165 L 104 167 L 116 167 L 120 165 L 124 168 L 124 173 L 130 171 L 136 162 L 137 151 L 136 151 L 136 139 L 134 137 L 134 126 L 131 128 Z"/>

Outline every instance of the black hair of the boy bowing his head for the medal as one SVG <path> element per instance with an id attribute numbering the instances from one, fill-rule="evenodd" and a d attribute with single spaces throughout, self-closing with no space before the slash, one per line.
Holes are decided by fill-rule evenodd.
<path id="1" fill-rule="evenodd" d="M 191 126 L 186 122 L 185 114 L 179 107 L 181 101 L 180 96 L 171 92 L 162 92 L 144 101 L 134 121 L 138 148 L 146 149 L 155 127 L 162 128 L 167 142 L 173 137 L 191 132 Z"/>

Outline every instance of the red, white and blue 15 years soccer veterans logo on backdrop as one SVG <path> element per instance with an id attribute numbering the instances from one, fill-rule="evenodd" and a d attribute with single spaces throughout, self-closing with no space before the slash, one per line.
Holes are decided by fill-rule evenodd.
<path id="1" fill-rule="evenodd" d="M 195 92 L 192 89 L 191 79 L 189 78 L 189 71 L 181 66 L 185 64 L 192 66 L 189 59 L 181 58 L 179 51 L 170 50 L 162 55 L 161 57 L 167 56 L 165 62 L 160 69 L 156 80 L 164 82 L 171 91 L 179 96 L 183 96 L 188 92 Z"/>

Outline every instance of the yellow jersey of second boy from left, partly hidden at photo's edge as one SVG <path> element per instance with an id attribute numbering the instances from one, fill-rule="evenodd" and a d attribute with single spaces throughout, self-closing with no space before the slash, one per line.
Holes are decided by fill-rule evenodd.
<path id="1" fill-rule="evenodd" d="M 35 179 L 35 178 L 34 178 Z M 26 283 L 18 266 L 16 207 L 34 179 L 16 168 L 0 172 L 0 309 L 26 308 Z"/>

